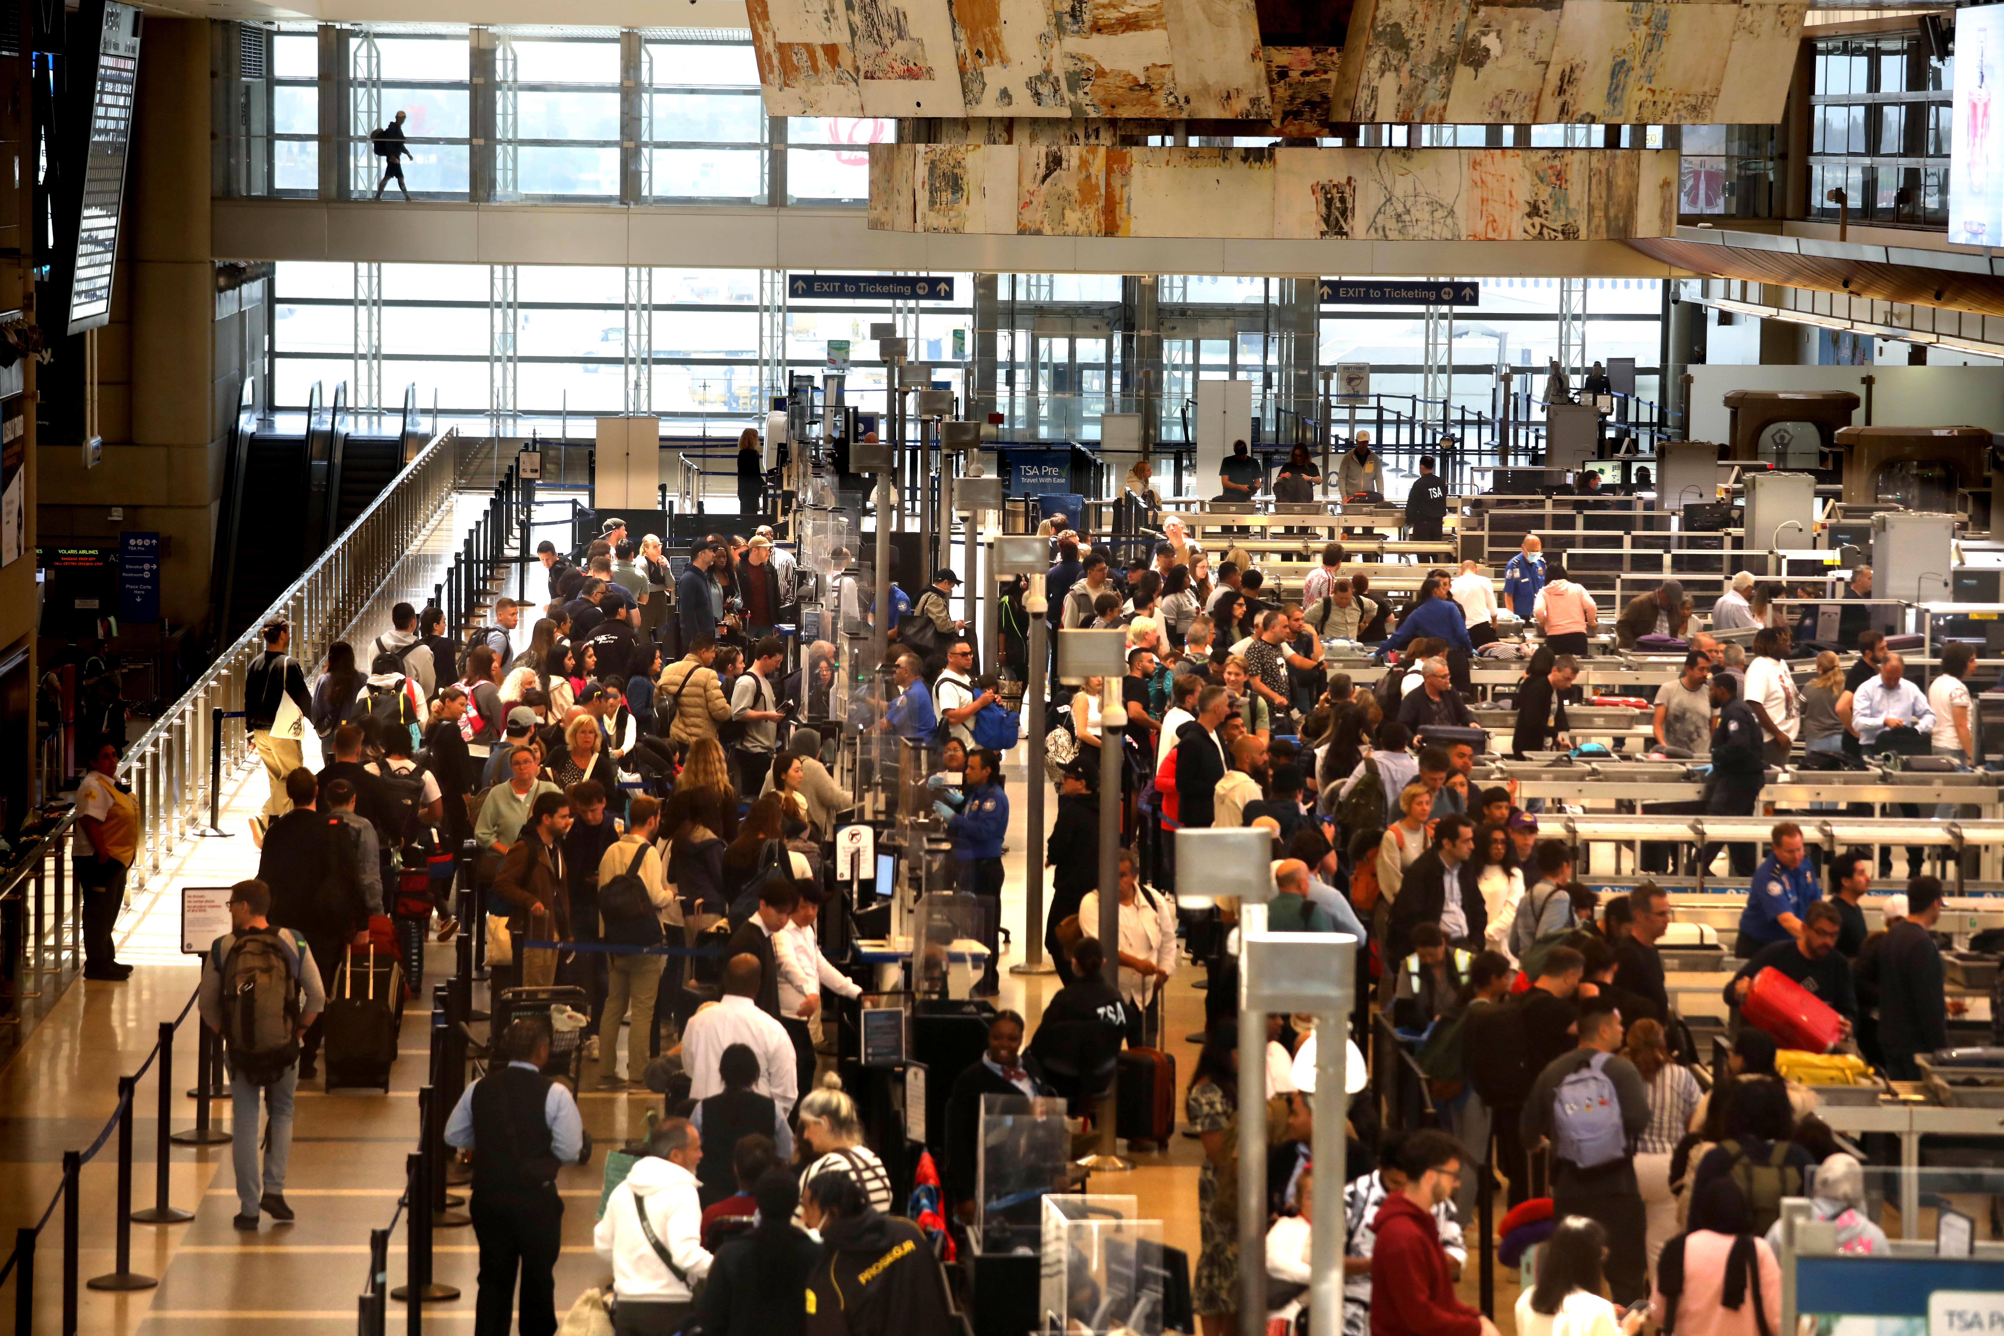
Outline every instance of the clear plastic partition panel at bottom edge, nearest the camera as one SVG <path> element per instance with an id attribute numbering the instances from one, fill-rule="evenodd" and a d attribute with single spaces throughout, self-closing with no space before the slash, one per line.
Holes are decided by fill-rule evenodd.
<path id="1" fill-rule="evenodd" d="M 1044 1198 L 1044 1332 L 1160 1336 L 1162 1222 L 1136 1216 L 1128 1196 Z"/>

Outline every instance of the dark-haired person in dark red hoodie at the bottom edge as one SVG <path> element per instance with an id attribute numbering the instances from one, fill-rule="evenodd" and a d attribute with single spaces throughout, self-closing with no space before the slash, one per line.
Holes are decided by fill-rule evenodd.
<path id="1" fill-rule="evenodd" d="M 1385 1198 L 1373 1222 L 1371 1336 L 1497 1336 L 1455 1298 L 1433 1208 L 1455 1196 L 1469 1154 L 1445 1132 L 1415 1132 L 1399 1150 L 1405 1190 Z"/>

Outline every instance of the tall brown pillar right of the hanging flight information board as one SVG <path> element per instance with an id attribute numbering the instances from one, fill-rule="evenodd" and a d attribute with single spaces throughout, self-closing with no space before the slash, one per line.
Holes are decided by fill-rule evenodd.
<path id="1" fill-rule="evenodd" d="M 259 280 L 218 290 L 210 260 L 208 28 L 202 18 L 146 20 L 124 258 L 112 322 L 98 330 L 104 463 L 84 471 L 76 441 L 36 451 L 44 533 L 162 535 L 160 613 L 172 623 L 208 613 L 224 455 L 244 377 L 265 353 L 271 292 Z"/>

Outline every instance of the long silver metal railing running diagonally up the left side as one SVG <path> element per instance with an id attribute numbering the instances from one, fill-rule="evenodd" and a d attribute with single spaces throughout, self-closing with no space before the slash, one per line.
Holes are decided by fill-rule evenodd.
<path id="1" fill-rule="evenodd" d="M 453 501 L 457 469 L 455 433 L 445 431 L 403 467 L 319 561 L 253 619 L 250 629 L 152 727 L 126 745 L 116 779 L 130 785 L 140 811 L 132 889 L 142 889 L 182 839 L 214 829 L 220 759 L 248 755 L 250 735 L 240 725 L 244 671 L 265 649 L 263 625 L 271 617 L 293 623 L 291 655 L 301 665 L 311 665 L 311 677 L 337 639 L 373 633 L 377 627 L 387 631 L 389 609 L 401 599 L 423 603 L 429 589 L 417 583 L 419 553 Z M 232 727 L 230 721 L 238 723 Z M 0 879 L 0 903 L 14 901 L 6 911 L 22 919 L 26 957 L 20 961 L 12 995 L 16 1006 L 6 1024 L 20 1024 L 20 1004 L 44 995 L 44 975 L 60 979 L 66 967 L 80 965 L 82 895 L 64 867 L 74 819 L 72 809 L 38 831 L 40 847 Z M 66 883 L 72 887 L 68 897 Z M 48 1006 L 40 1010 L 46 1012 Z"/>

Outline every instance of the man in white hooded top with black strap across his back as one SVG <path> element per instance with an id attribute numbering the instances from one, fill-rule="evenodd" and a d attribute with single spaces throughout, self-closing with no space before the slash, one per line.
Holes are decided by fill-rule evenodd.
<path id="1" fill-rule="evenodd" d="M 591 1250 L 613 1264 L 619 1336 L 671 1336 L 695 1310 L 695 1286 L 711 1262 L 695 1196 L 701 1156 L 703 1134 L 687 1118 L 669 1118 L 655 1126 L 647 1154 L 605 1198 Z"/>

